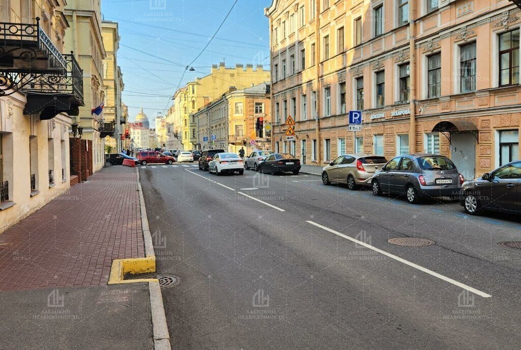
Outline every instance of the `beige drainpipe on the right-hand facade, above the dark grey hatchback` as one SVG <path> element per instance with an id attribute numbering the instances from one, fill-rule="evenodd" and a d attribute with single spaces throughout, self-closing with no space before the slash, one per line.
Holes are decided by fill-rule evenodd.
<path id="1" fill-rule="evenodd" d="M 416 152 L 416 2 L 409 2 L 409 72 L 410 72 L 410 86 L 409 86 L 409 109 L 411 110 L 409 121 L 409 153 Z"/>

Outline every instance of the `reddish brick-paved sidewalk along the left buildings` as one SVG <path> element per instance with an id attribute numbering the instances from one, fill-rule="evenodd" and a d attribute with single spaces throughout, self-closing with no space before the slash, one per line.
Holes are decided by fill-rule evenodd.
<path id="1" fill-rule="evenodd" d="M 0 291 L 104 285 L 144 256 L 135 169 L 103 168 L 0 234 Z"/>

